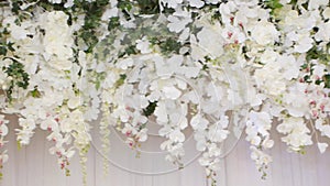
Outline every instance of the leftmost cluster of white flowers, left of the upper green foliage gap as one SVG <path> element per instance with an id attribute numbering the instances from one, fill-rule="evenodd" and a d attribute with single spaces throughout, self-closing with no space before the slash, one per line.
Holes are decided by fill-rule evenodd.
<path id="1" fill-rule="evenodd" d="M 11 105 L 1 103 L 2 111 L 20 116 L 21 128 L 15 129 L 20 145 L 30 143 L 37 127 L 50 131 L 47 140 L 55 144 L 50 152 L 58 156 L 58 164 L 65 169 L 75 147 L 81 150 L 90 142 L 82 112 L 84 100 L 79 95 L 84 88 L 78 75 L 81 67 L 73 63 L 74 39 L 73 29 L 67 24 L 68 17 L 54 11 L 41 13 L 37 18 L 19 25 L 14 17 L 3 20 L 11 32 L 9 40 L 16 44 L 16 48 L 8 57 L 11 59 L 4 59 L 7 63 L 2 65 L 9 68 L 12 62 L 24 64 L 30 79 L 25 90 L 13 90 Z M 4 81 L 11 79 L 3 78 Z"/>

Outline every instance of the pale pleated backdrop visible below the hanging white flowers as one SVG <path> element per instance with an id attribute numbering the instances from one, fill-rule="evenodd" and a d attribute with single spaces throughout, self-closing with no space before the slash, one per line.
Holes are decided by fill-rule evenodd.
<path id="1" fill-rule="evenodd" d="M 12 128 L 12 127 L 11 127 Z M 0 186 L 82 186 L 78 157 L 70 165 L 72 176 L 66 177 L 59 171 L 56 157 L 48 154 L 51 142 L 45 142 L 46 132 L 38 132 L 30 146 L 16 149 L 13 131 L 10 141 L 10 161 L 4 165 L 4 177 Z M 274 136 L 274 135 L 273 135 Z M 250 160 L 249 145 L 241 140 L 232 153 L 222 163 L 218 186 L 329 186 L 330 152 L 320 154 L 316 147 L 308 147 L 307 155 L 289 154 L 279 143 L 271 154 L 274 163 L 268 168 L 266 180 L 255 169 Z M 116 145 L 116 144 L 112 144 Z M 207 186 L 204 169 L 197 162 L 183 171 L 162 175 L 142 176 L 110 166 L 107 177 L 102 174 L 102 158 L 94 149 L 89 152 L 88 186 Z"/>

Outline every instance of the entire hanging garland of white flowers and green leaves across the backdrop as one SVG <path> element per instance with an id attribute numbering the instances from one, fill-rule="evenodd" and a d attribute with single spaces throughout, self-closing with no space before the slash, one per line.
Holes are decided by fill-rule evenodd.
<path id="1" fill-rule="evenodd" d="M 99 117 L 105 154 L 111 127 L 139 152 L 154 122 L 182 167 L 191 128 L 216 184 L 221 144 L 243 128 L 263 177 L 272 129 L 290 151 L 328 147 L 328 0 L 11 0 L 1 14 L 1 149 L 16 114 L 20 146 L 48 131 L 61 168 L 78 151 L 86 175 Z"/>

